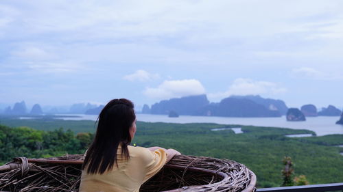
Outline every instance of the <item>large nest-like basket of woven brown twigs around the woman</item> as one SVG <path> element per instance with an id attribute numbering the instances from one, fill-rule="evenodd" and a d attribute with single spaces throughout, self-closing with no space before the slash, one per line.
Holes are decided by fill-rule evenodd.
<path id="1" fill-rule="evenodd" d="M 14 158 L 0 166 L 0 191 L 78 191 L 82 154 L 45 159 Z M 140 191 L 255 191 L 256 176 L 227 159 L 180 155 L 141 186 Z"/>

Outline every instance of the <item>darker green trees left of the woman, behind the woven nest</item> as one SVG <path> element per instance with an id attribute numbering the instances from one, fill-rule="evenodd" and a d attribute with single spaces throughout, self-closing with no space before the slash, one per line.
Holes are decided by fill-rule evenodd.
<path id="1" fill-rule="evenodd" d="M 55 131 L 38 131 L 29 127 L 9 128 L 0 125 L 0 162 L 16 156 L 39 158 L 60 156 L 66 153 L 83 153 L 91 143 L 91 133 L 79 133 L 59 128 Z"/>

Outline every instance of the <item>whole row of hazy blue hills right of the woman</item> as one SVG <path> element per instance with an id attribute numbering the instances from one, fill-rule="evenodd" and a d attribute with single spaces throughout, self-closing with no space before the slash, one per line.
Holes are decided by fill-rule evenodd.
<path id="1" fill-rule="evenodd" d="M 303 105 L 301 111 L 296 108 L 288 110 L 283 100 L 262 98 L 261 96 L 230 96 L 220 102 L 209 102 L 206 95 L 171 98 L 156 102 L 150 108 L 144 105 L 142 113 L 167 115 L 174 111 L 180 115 L 202 115 L 222 117 L 280 117 L 286 115 L 290 121 L 305 120 L 305 116 L 340 115 L 342 111 L 329 105 L 322 111 L 317 111 L 315 105 Z"/>

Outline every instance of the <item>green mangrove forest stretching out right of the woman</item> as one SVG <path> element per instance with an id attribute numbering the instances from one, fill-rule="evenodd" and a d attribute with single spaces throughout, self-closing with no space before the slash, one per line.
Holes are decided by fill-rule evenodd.
<path id="1" fill-rule="evenodd" d="M 314 184 L 342 182 L 343 172 L 338 170 L 343 167 L 343 156 L 339 148 L 284 136 L 314 134 L 313 131 L 257 126 L 241 126 L 243 134 L 230 130 L 211 131 L 211 128 L 222 127 L 237 126 L 139 122 L 133 142 L 138 146 L 163 146 L 175 148 L 182 154 L 244 163 L 257 174 L 258 187 L 280 186 L 283 182 L 280 159 L 284 156 L 292 156 L 296 174 L 306 175 Z M 343 139 L 338 144 L 343 144 Z"/>

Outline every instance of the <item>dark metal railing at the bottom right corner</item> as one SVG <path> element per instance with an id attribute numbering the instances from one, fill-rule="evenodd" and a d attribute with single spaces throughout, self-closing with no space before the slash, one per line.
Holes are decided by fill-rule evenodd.
<path id="1" fill-rule="evenodd" d="M 343 182 L 330 183 L 330 184 L 310 184 L 292 187 L 271 187 L 257 189 L 257 192 L 262 191 L 276 191 L 276 192 L 324 192 L 324 191 L 342 191 Z"/>

